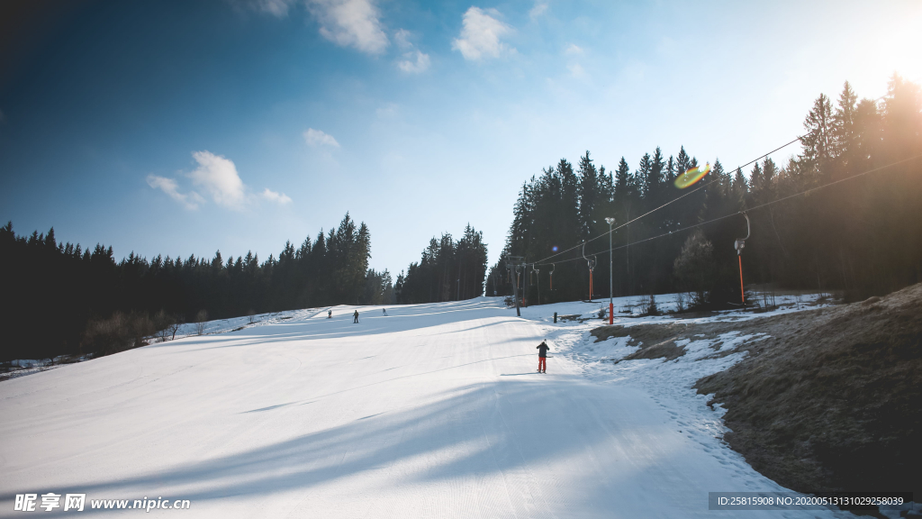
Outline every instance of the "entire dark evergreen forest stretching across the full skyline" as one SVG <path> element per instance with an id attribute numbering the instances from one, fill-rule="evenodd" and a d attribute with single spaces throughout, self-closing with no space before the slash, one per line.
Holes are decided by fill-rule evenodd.
<path id="1" fill-rule="evenodd" d="M 894 75 L 881 99 L 859 99 L 846 82 L 834 101 L 816 99 L 799 141 L 786 162 L 766 156 L 745 169 L 684 147 L 669 155 L 657 147 L 634 168 L 622 157 L 607 169 L 589 151 L 575 165 L 561 159 L 522 186 L 489 275 L 483 235 L 470 224 L 456 240 L 433 236 L 392 280 L 369 269 L 369 228 L 348 213 L 262 262 L 252 252 L 116 260 L 112 247 L 61 243 L 53 229 L 16 235 L 7 223 L 0 360 L 111 353 L 175 322 L 463 300 L 484 289 L 510 296 L 514 284 L 526 305 L 606 297 L 606 218 L 614 296 L 683 292 L 693 307 L 722 308 L 739 302 L 740 259 L 747 286 L 838 290 L 849 300 L 922 281 L 922 89 Z M 701 181 L 674 186 L 704 162 L 711 170 Z M 744 211 L 751 237 L 737 259 Z M 526 267 L 509 269 L 513 262 Z M 121 320 L 132 331 L 101 341 L 110 333 L 102 324 Z"/>

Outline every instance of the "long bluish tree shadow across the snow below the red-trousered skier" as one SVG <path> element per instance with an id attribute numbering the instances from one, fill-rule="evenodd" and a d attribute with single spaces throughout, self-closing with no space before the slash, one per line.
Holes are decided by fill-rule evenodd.
<path id="1" fill-rule="evenodd" d="M 89 496 L 169 495 L 195 502 L 291 489 L 310 491 L 375 470 L 384 471 L 384 477 L 399 473 L 395 485 L 527 473 L 528 466 L 560 463 L 587 449 L 602 448 L 613 434 L 643 439 L 650 428 L 649 420 L 633 422 L 625 417 L 630 413 L 619 408 L 621 401 L 606 399 L 610 390 L 575 378 L 556 379 L 553 385 L 546 382 L 506 379 L 472 384 L 445 392 L 429 404 L 361 416 L 271 445 L 148 475 L 83 481 L 55 491 Z M 252 412 L 294 412 L 282 409 L 287 405 Z M 624 428 L 629 432 L 620 431 Z M 644 462 L 656 455 L 669 454 L 662 449 L 646 453 Z M 422 458 L 426 463 L 419 463 Z M 586 467 L 585 499 L 593 499 L 590 494 L 602 496 L 610 482 L 630 478 L 644 466 L 611 469 Z M 666 477 L 649 476 L 655 480 Z M 32 491 L 8 489 L 10 494 Z"/>

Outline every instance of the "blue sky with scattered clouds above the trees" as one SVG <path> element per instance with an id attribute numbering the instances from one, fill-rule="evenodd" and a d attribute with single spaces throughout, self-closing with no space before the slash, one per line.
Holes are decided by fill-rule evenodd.
<path id="1" fill-rule="evenodd" d="M 729 168 L 845 80 L 922 81 L 916 1 L 62 4 L 0 16 L 0 219 L 117 258 L 266 259 L 349 211 L 375 269 L 467 223 L 492 262 L 561 158 Z"/>

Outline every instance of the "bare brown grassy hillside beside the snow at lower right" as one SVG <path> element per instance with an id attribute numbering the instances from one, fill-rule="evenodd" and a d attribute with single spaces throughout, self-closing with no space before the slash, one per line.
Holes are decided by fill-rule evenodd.
<path id="1" fill-rule="evenodd" d="M 592 333 L 643 343 L 627 358 L 676 358 L 677 339 L 731 331 L 771 338 L 740 346 L 746 359 L 695 388 L 727 408 L 725 438 L 753 468 L 804 492 L 922 495 L 922 284 L 764 319 Z"/>

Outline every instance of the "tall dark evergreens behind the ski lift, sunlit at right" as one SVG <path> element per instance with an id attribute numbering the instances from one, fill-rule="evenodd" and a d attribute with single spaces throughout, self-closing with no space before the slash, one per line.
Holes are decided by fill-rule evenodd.
<path id="1" fill-rule="evenodd" d="M 684 231 L 738 211 L 747 211 L 752 226 L 742 254 L 746 284 L 842 289 L 856 299 L 922 281 L 919 86 L 894 75 L 881 100 L 859 101 L 846 82 L 834 103 L 823 94 L 817 98 L 804 127 L 803 151 L 786 163 L 767 158 L 746 175 L 739 169 L 726 171 L 715 159 L 711 173 L 685 190 L 674 187 L 675 178 L 703 164 L 684 148 L 668 157 L 656 148 L 633 170 L 622 157 L 614 172 L 597 167 L 588 151 L 575 169 L 561 159 L 522 187 L 487 293 L 512 294 L 515 274 L 506 269 L 510 256 L 540 261 L 555 254 L 555 247 L 565 250 L 607 232 L 606 217 L 615 218 L 618 227 L 686 194 L 615 233 L 616 296 L 703 288 L 707 303 L 738 299 L 733 243 L 746 235 L 743 216 L 704 224 L 693 239 Z M 785 199 L 875 168 L 883 169 Z M 702 188 L 688 194 L 697 187 Z M 764 205 L 770 202 L 777 203 Z M 597 259 L 597 297 L 609 294 L 608 242 L 604 236 L 585 247 L 586 256 Z M 683 245 L 686 255 L 699 257 L 680 259 Z M 520 289 L 532 304 L 538 302 L 538 291 L 541 303 L 585 299 L 589 272 L 582 254 L 577 247 L 548 259 L 553 265 L 536 265 L 538 272 L 529 267 L 518 276 Z M 703 272 L 688 272 L 690 265 L 700 265 Z"/>

